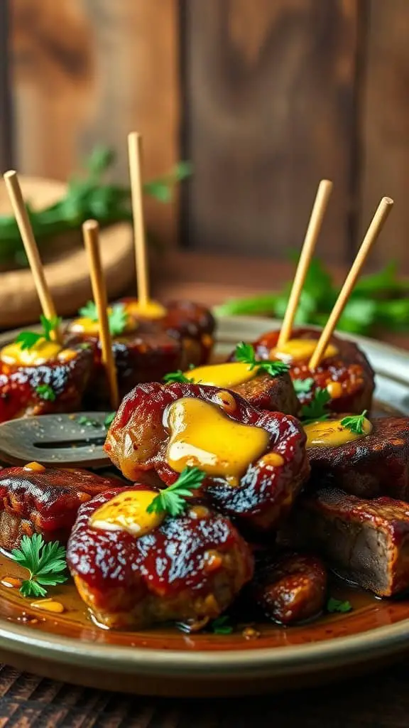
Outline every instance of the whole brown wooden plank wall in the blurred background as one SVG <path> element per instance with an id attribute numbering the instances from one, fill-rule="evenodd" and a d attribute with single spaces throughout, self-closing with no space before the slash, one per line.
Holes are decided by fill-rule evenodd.
<path id="1" fill-rule="evenodd" d="M 9 0 L 9 7 L 23 173 L 64 179 L 103 142 L 115 146 L 114 176 L 126 181 L 126 135 L 138 128 L 146 177 L 180 158 L 194 163 L 183 244 L 263 258 L 298 248 L 327 176 L 335 186 L 319 253 L 333 264 L 350 261 L 389 194 L 395 210 L 373 261 L 394 256 L 409 272 L 407 0 Z M 148 221 L 171 245 L 178 200 L 149 202 Z"/>

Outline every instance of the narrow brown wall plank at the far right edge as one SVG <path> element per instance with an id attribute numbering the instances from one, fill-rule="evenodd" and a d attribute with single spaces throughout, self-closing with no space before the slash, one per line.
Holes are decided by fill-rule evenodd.
<path id="1" fill-rule="evenodd" d="M 395 205 L 373 261 L 409 270 L 409 3 L 370 0 L 362 107 L 361 234 L 382 195 Z"/>

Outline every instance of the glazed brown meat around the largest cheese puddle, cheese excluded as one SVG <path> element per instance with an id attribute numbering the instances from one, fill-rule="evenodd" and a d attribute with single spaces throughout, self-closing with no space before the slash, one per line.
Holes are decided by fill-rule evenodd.
<path id="1" fill-rule="evenodd" d="M 266 430 L 269 445 L 266 453 L 249 465 L 239 486 L 207 477 L 203 487 L 223 513 L 256 531 L 271 531 L 285 518 L 309 475 L 306 435 L 290 415 L 256 410 L 239 395 L 218 387 L 140 384 L 124 398 L 108 431 L 105 449 L 130 480 L 138 478 L 141 471 L 156 470 L 161 480 L 171 485 L 179 474 L 166 460 L 170 435 L 163 425 L 164 410 L 182 397 L 197 397 L 224 408 L 226 395 L 231 419 Z M 277 461 L 277 455 L 281 464 L 271 462 Z"/>

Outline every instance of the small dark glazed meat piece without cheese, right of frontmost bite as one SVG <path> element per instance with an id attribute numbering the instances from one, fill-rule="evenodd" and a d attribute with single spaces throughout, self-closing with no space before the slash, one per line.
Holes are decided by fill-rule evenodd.
<path id="1" fill-rule="evenodd" d="M 325 606 L 327 569 L 317 556 L 282 553 L 255 566 L 250 592 L 263 613 L 290 625 L 317 617 Z"/>

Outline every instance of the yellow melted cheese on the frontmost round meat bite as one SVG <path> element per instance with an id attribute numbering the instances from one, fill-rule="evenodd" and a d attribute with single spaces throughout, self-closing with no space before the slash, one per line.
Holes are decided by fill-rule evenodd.
<path id="1" fill-rule="evenodd" d="M 131 536 L 149 534 L 164 520 L 164 513 L 147 513 L 154 491 L 124 491 L 98 508 L 90 518 L 92 529 L 127 531 Z"/>

